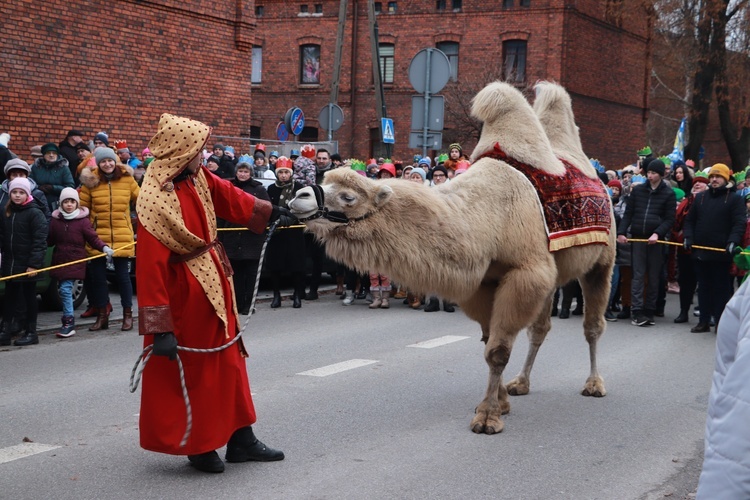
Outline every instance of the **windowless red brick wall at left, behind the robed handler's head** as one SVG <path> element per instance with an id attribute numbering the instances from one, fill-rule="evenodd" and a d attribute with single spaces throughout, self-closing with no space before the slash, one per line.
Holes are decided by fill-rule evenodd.
<path id="1" fill-rule="evenodd" d="M 252 0 L 14 0 L 0 19 L 0 131 L 25 159 L 70 128 L 140 152 L 163 112 L 249 130 Z"/>

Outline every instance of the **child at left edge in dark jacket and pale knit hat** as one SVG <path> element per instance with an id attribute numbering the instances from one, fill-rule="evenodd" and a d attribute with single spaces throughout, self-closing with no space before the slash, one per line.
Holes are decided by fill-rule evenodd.
<path id="1" fill-rule="evenodd" d="M 70 174 L 70 172 L 68 172 Z M 4 207 L 0 224 L 2 241 L 3 276 L 30 273 L 5 283 L 3 316 L 6 328 L 0 333 L 0 345 L 10 345 L 10 329 L 13 312 L 26 306 L 26 333 L 16 339 L 13 345 L 27 346 L 39 343 L 36 334 L 37 269 L 44 267 L 47 252 L 47 219 L 34 203 L 31 196 L 31 183 L 25 177 L 17 177 L 8 185 L 10 201 Z"/>

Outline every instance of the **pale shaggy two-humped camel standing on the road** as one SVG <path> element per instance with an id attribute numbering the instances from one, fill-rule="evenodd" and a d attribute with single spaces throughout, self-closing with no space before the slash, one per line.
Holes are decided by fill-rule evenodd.
<path id="1" fill-rule="evenodd" d="M 489 381 L 471 420 L 475 433 L 501 432 L 508 395 L 528 394 L 534 359 L 552 325 L 554 290 L 572 279 L 580 280 L 585 297 L 590 354 L 581 393 L 606 394 L 596 344 L 605 328 L 615 258 L 611 204 L 604 196 L 609 214 L 604 241 L 550 250 L 539 195 L 508 162 L 558 176 L 566 171 L 565 160 L 586 177 L 596 179 L 596 173 L 581 148 L 567 92 L 552 83 L 538 84 L 536 92 L 534 108 L 502 82 L 475 96 L 472 114 L 483 130 L 474 163 L 450 183 L 430 188 L 336 169 L 325 174 L 319 189 L 301 189 L 289 204 L 333 259 L 360 272 L 388 274 L 410 290 L 436 292 L 479 323 Z M 483 157 L 498 147 L 507 161 Z M 601 182 L 594 182 L 604 192 Z M 524 328 L 528 355 L 521 372 L 504 385 L 503 371 Z"/>

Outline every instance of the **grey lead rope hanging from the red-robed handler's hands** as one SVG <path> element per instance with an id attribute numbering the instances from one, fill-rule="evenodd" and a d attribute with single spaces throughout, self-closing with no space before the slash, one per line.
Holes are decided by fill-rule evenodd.
<path id="1" fill-rule="evenodd" d="M 220 352 L 224 349 L 228 349 L 235 343 L 237 343 L 238 340 L 240 340 L 240 337 L 242 337 L 242 334 L 245 332 L 245 329 L 247 329 L 247 325 L 250 323 L 250 318 L 255 313 L 255 301 L 258 298 L 258 289 L 260 288 L 260 274 L 263 269 L 263 261 L 266 258 L 266 247 L 268 246 L 268 242 L 271 240 L 271 236 L 273 236 L 274 231 L 276 230 L 276 227 L 278 226 L 279 221 L 274 221 L 269 230 L 268 235 L 266 236 L 265 241 L 263 242 L 263 247 L 260 250 L 260 260 L 258 262 L 258 272 L 255 275 L 255 287 L 253 288 L 253 298 L 250 301 L 250 314 L 248 314 L 247 318 L 245 319 L 244 324 L 242 325 L 242 328 L 240 331 L 235 335 L 235 337 L 227 342 L 224 345 L 221 345 L 219 347 L 213 347 L 210 349 L 196 349 L 193 347 L 186 347 L 186 346 L 177 346 L 178 351 L 186 351 L 186 352 L 194 352 L 194 353 L 202 353 L 202 354 L 208 354 L 208 353 L 214 353 L 214 352 Z M 246 228 L 242 228 L 246 229 Z M 133 370 L 130 372 L 130 392 L 133 393 L 136 390 L 138 390 L 138 385 L 141 382 L 141 375 L 143 374 L 144 368 L 146 368 L 146 363 L 148 363 L 148 360 L 151 359 L 151 356 L 153 355 L 153 348 L 154 345 L 147 345 L 141 354 L 138 356 L 138 359 L 135 362 L 135 365 L 133 366 Z M 185 401 L 185 411 L 187 414 L 187 425 L 185 427 L 185 434 L 182 436 L 182 440 L 180 441 L 180 447 L 185 446 L 187 444 L 187 440 L 190 437 L 190 432 L 193 429 L 193 408 L 190 405 L 190 397 L 188 396 L 187 392 L 187 385 L 185 383 L 185 370 L 182 366 L 182 360 L 180 359 L 180 355 L 177 354 L 176 357 L 177 360 L 177 368 L 180 371 L 180 387 L 182 388 L 182 398 Z M 140 365 L 140 369 L 139 369 Z"/>

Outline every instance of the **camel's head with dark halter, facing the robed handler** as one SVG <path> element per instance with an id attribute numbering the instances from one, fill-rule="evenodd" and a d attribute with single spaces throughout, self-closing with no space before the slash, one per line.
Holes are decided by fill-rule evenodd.
<path id="1" fill-rule="evenodd" d="M 300 189 L 289 202 L 289 209 L 322 237 L 336 227 L 370 217 L 388 203 L 392 194 L 393 189 L 385 183 L 337 168 L 326 172 L 322 185 Z"/>

